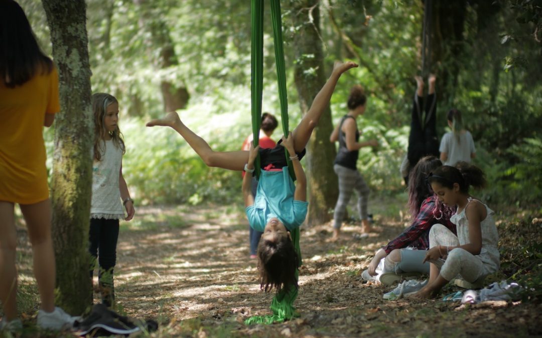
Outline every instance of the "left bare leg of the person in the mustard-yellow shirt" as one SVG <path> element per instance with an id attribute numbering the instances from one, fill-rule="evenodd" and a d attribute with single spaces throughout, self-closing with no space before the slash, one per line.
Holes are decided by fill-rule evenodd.
<path id="1" fill-rule="evenodd" d="M 5 319 L 11 321 L 17 318 L 17 229 L 11 202 L 0 201 L 0 234 L 0 301 Z"/>

